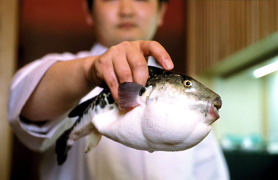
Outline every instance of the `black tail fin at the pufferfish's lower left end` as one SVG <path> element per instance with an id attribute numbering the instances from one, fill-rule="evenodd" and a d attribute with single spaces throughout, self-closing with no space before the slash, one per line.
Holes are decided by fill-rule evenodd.
<path id="1" fill-rule="evenodd" d="M 55 152 L 57 154 L 58 165 L 61 165 L 66 161 L 66 155 L 68 150 L 71 149 L 71 146 L 67 145 L 67 140 L 72 131 L 72 128 L 68 129 L 60 136 L 60 138 L 56 141 Z"/>

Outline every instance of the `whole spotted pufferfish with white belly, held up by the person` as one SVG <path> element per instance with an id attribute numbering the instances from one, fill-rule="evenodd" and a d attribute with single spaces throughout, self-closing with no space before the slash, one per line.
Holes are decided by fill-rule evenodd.
<path id="1" fill-rule="evenodd" d="M 183 151 L 197 145 L 219 118 L 220 96 L 181 73 L 149 66 L 146 86 L 119 85 L 119 105 L 108 88 L 73 109 L 79 116 L 56 142 L 58 164 L 75 141 L 89 135 L 85 152 L 102 135 L 134 149 Z M 188 83 L 188 84 L 187 84 Z"/>

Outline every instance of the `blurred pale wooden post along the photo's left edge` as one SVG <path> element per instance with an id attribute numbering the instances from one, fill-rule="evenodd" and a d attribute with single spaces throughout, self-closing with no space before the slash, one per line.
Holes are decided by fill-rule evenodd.
<path id="1" fill-rule="evenodd" d="M 18 9 L 18 0 L 0 0 L 0 179 L 10 179 L 11 172 L 12 132 L 7 101 L 17 59 Z"/>

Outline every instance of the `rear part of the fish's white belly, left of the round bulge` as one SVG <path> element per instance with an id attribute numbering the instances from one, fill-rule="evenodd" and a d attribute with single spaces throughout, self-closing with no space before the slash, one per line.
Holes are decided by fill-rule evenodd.
<path id="1" fill-rule="evenodd" d="M 140 126 L 143 109 L 143 105 L 131 110 L 115 108 L 95 115 L 92 122 L 102 135 L 128 147 L 146 150 L 146 138 Z"/>

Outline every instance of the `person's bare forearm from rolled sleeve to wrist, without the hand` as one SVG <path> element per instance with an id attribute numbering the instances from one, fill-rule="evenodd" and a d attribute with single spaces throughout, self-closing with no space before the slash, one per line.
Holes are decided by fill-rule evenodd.
<path id="1" fill-rule="evenodd" d="M 24 105 L 21 115 L 32 121 L 44 121 L 74 107 L 95 87 L 88 81 L 86 72 L 96 57 L 58 61 L 52 65 Z"/>

